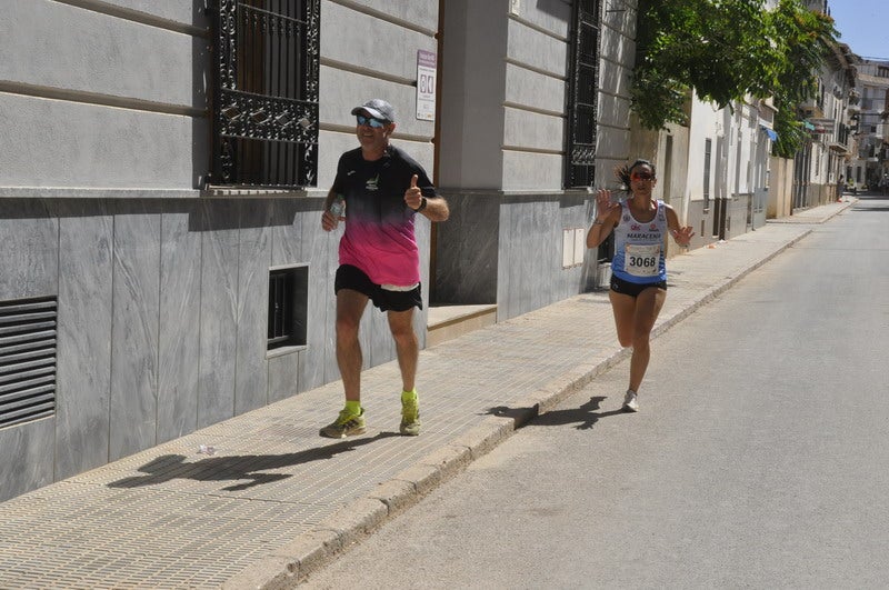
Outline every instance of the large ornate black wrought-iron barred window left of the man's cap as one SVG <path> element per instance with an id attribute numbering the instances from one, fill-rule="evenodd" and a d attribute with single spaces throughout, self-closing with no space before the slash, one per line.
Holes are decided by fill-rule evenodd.
<path id="1" fill-rule="evenodd" d="M 313 187 L 320 0 L 217 0 L 214 186 Z"/>

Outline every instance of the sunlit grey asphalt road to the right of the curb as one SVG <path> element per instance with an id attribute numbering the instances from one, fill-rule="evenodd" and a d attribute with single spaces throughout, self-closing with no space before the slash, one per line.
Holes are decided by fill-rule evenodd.
<path id="1" fill-rule="evenodd" d="M 653 342 L 639 413 L 625 362 L 304 587 L 889 587 L 887 229 L 816 227 Z"/>

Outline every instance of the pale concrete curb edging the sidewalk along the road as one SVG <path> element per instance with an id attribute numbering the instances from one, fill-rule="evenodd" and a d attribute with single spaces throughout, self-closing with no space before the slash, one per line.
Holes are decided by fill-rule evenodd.
<path id="1" fill-rule="evenodd" d="M 827 219 L 839 214 L 845 209 L 839 209 Z M 810 233 L 811 230 L 800 233 L 761 260 L 742 269 L 735 277 L 708 289 L 683 309 L 659 321 L 652 330 L 651 337 L 658 338 L 663 334 L 698 309 L 731 289 L 750 272 Z M 629 349 L 605 351 L 589 363 L 578 366 L 553 379 L 543 388 L 517 402 L 515 408 L 487 418 L 481 424 L 457 440 L 422 458 L 391 480 L 381 483 L 367 497 L 344 506 L 314 529 L 300 534 L 292 542 L 228 580 L 222 588 L 226 590 L 296 588 L 313 571 L 330 563 L 351 546 L 379 529 L 389 519 L 414 506 L 430 491 L 461 473 L 472 461 L 506 441 L 516 430 L 526 426 L 540 413 L 551 410 L 629 356 Z"/>

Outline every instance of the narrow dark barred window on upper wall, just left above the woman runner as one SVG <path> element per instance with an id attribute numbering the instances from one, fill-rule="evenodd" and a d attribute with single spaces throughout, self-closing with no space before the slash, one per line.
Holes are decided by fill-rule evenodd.
<path id="1" fill-rule="evenodd" d="M 599 0 L 575 2 L 572 22 L 566 188 L 590 187 L 596 180 Z"/>

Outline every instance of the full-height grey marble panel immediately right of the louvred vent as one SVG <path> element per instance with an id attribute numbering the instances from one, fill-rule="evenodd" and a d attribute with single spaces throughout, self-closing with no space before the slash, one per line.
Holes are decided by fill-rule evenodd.
<path id="1" fill-rule="evenodd" d="M 113 217 L 100 200 L 60 200 L 56 478 L 108 462 Z M 120 424 L 119 424 L 120 426 Z"/>

